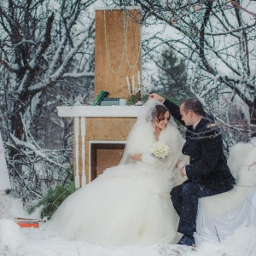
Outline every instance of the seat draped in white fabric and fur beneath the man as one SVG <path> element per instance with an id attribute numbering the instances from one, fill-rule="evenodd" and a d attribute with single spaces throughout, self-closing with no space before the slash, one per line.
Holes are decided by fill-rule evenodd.
<path id="1" fill-rule="evenodd" d="M 200 200 L 197 245 L 203 241 L 223 241 L 242 226 L 256 226 L 256 139 L 231 148 L 228 164 L 237 184 L 229 192 Z M 252 239 L 256 244 L 256 237 Z"/>

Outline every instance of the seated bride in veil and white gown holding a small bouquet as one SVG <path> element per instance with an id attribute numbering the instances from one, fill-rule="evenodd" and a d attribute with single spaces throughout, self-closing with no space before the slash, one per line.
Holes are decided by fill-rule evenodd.
<path id="1" fill-rule="evenodd" d="M 183 138 L 163 104 L 149 100 L 145 105 L 119 166 L 68 196 L 49 221 L 64 239 L 102 245 L 178 240 L 170 191 L 177 183 Z"/>

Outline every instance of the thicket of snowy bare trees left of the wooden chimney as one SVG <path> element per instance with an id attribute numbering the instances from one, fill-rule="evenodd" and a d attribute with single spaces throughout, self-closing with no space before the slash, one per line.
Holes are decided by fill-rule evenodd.
<path id="1" fill-rule="evenodd" d="M 90 101 L 95 2 L 0 2 L 1 131 L 14 191 L 24 199 L 42 197 L 72 164 L 72 120 L 58 118 L 55 107 Z"/>

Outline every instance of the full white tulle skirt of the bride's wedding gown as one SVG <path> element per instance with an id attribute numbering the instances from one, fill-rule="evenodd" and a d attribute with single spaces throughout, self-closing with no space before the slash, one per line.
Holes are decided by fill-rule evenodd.
<path id="1" fill-rule="evenodd" d="M 70 195 L 49 222 L 67 240 L 102 245 L 177 242 L 171 170 L 115 166 Z"/>

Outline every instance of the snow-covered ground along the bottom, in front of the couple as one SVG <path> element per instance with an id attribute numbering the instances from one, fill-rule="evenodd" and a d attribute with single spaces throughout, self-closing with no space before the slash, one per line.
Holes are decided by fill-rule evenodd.
<path id="1" fill-rule="evenodd" d="M 82 241 L 65 241 L 55 233 L 39 228 L 22 228 L 14 217 L 38 218 L 37 212 L 27 216 L 21 202 L 8 195 L 1 195 L 0 215 L 0 256 L 171 256 L 171 255 L 256 255 L 256 227 L 242 227 L 225 241 L 208 243 L 200 247 L 154 244 L 138 247 L 106 247 Z M 256 211 L 256 209 L 255 209 Z"/>

